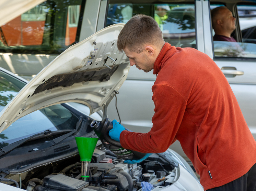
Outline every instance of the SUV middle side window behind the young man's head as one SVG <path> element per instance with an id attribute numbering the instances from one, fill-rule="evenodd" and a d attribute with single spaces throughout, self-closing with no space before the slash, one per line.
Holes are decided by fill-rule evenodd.
<path id="1" fill-rule="evenodd" d="M 158 22 L 165 42 L 174 46 L 196 48 L 195 4 L 110 2 L 105 27 L 127 23 L 133 15 L 139 13 L 149 15 Z"/>

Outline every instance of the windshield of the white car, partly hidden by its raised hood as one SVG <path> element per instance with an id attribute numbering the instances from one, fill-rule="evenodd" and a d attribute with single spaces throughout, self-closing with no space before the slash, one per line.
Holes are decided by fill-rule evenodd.
<path id="1" fill-rule="evenodd" d="M 0 72 L 0 110 L 22 89 L 24 82 Z M 78 121 L 63 105 L 49 106 L 32 112 L 11 124 L 0 134 L 0 148 L 36 133 L 75 129 Z"/>

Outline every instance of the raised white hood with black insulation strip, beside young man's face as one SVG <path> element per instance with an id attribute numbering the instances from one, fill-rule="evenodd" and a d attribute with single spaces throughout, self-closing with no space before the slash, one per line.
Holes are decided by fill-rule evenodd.
<path id="1" fill-rule="evenodd" d="M 90 115 L 106 108 L 126 80 L 130 65 L 116 46 L 124 24 L 106 27 L 69 47 L 42 69 L 0 112 L 0 132 L 14 121 L 50 105 L 77 102 Z"/>

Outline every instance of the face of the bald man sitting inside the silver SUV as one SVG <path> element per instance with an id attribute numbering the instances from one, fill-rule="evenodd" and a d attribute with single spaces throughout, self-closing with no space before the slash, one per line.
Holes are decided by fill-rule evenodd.
<path id="1" fill-rule="evenodd" d="M 228 9 L 223 9 L 222 12 L 222 27 L 225 31 L 230 31 L 232 33 L 235 30 L 235 17 L 233 17 L 233 14 Z"/>

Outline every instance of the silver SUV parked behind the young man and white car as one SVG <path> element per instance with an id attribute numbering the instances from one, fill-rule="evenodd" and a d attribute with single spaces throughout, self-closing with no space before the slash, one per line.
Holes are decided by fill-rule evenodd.
<path id="1" fill-rule="evenodd" d="M 256 3 L 252 1 L 222 0 L 220 4 L 212 0 L 169 0 L 162 4 L 158 0 L 48 0 L 0 28 L 0 66 L 30 80 L 69 46 L 106 26 L 126 23 L 135 14 L 155 17 L 159 5 L 169 7 L 161 18 L 165 41 L 193 47 L 217 63 L 256 138 Z M 233 37 L 242 50 L 230 42 L 212 40 L 210 10 L 221 5 L 236 17 Z M 108 118 L 118 120 L 120 116 L 126 128 L 150 131 L 155 78 L 152 72 L 131 67 L 117 102 L 113 100 L 108 107 Z M 178 141 L 171 148 L 187 159 Z"/>

